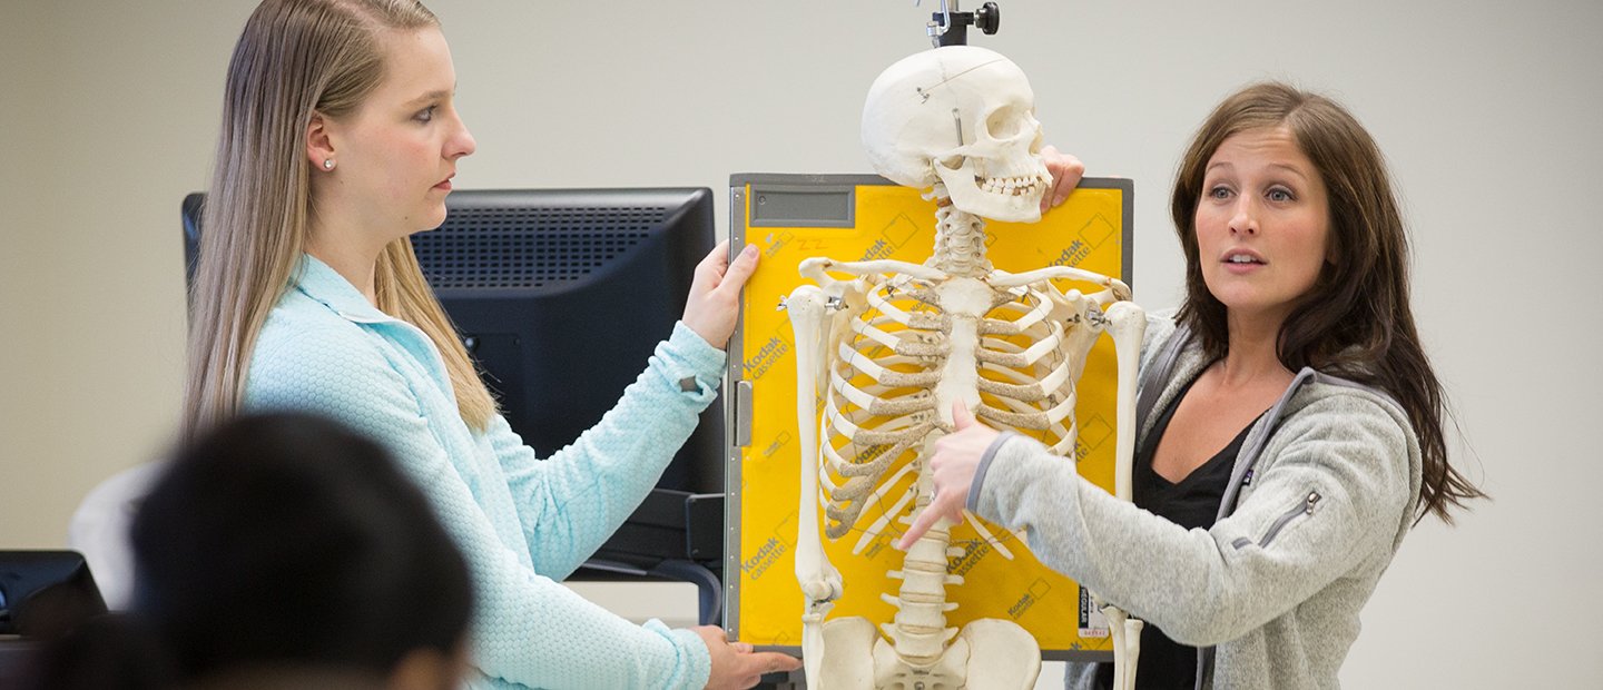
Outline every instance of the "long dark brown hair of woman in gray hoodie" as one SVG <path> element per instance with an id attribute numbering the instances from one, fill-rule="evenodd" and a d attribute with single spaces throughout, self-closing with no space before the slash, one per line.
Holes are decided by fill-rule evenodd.
<path id="1" fill-rule="evenodd" d="M 1319 279 L 1281 325 L 1278 355 L 1297 371 L 1313 367 L 1395 397 L 1419 435 L 1423 485 L 1419 515 L 1451 524 L 1451 507 L 1484 493 L 1448 463 L 1446 397 L 1425 357 L 1409 306 L 1409 242 L 1385 157 L 1340 104 L 1284 83 L 1236 91 L 1197 130 L 1175 176 L 1170 215 L 1186 253 L 1186 301 L 1178 320 L 1204 351 L 1230 347 L 1226 307 L 1202 280 L 1196 210 L 1207 163 L 1233 134 L 1286 126 L 1313 162 L 1330 202 L 1330 253 Z"/>

